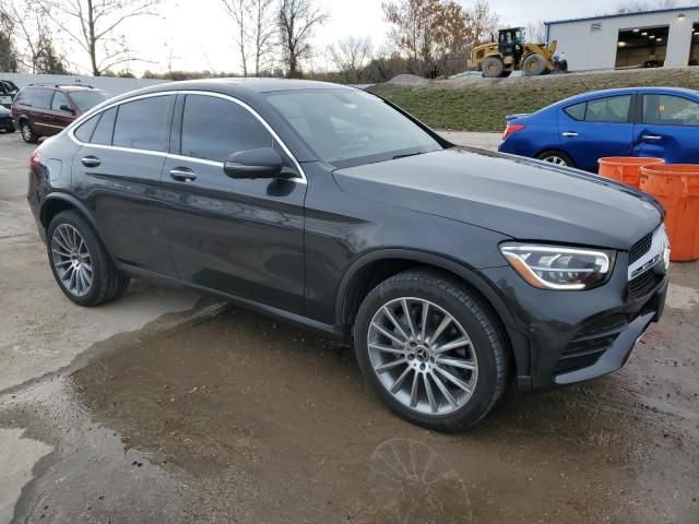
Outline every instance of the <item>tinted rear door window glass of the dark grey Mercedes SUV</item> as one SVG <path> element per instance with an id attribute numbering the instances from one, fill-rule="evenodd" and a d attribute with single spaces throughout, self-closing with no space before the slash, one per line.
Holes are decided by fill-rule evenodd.
<path id="1" fill-rule="evenodd" d="M 166 152 L 174 99 L 167 95 L 121 104 L 114 128 L 114 145 Z"/>

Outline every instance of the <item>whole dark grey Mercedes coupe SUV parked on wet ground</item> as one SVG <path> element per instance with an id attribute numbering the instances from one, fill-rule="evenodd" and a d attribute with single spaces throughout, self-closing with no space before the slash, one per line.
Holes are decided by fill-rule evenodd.
<path id="1" fill-rule="evenodd" d="M 28 201 L 81 306 L 129 278 L 211 291 L 354 344 L 407 420 L 481 420 L 506 385 L 620 368 L 662 313 L 662 207 L 616 182 L 457 147 L 339 85 L 164 84 L 40 145 Z"/>

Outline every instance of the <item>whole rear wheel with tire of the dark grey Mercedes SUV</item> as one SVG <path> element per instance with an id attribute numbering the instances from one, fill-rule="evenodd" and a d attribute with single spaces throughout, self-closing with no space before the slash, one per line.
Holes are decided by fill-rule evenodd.
<path id="1" fill-rule="evenodd" d="M 56 215 L 46 238 L 54 277 L 73 302 L 99 306 L 126 291 L 129 277 L 116 270 L 97 233 L 79 213 Z"/>

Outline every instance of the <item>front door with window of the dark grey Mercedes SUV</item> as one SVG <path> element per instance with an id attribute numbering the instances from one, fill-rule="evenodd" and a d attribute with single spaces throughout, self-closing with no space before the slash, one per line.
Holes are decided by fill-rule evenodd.
<path id="1" fill-rule="evenodd" d="M 180 98 L 174 130 L 181 129 L 181 135 L 175 131 L 173 140 L 177 154 L 167 157 L 163 170 L 179 277 L 303 313 L 306 181 L 227 177 L 224 159 L 257 147 L 275 147 L 287 169 L 300 174 L 247 108 L 214 95 Z"/>

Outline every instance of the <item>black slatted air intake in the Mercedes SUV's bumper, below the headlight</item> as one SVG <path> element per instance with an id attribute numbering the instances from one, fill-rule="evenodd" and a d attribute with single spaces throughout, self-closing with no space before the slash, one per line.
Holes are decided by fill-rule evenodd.
<path id="1" fill-rule="evenodd" d="M 554 372 L 559 374 L 594 365 L 627 325 L 624 314 L 613 314 L 584 325 L 560 354 Z"/>

